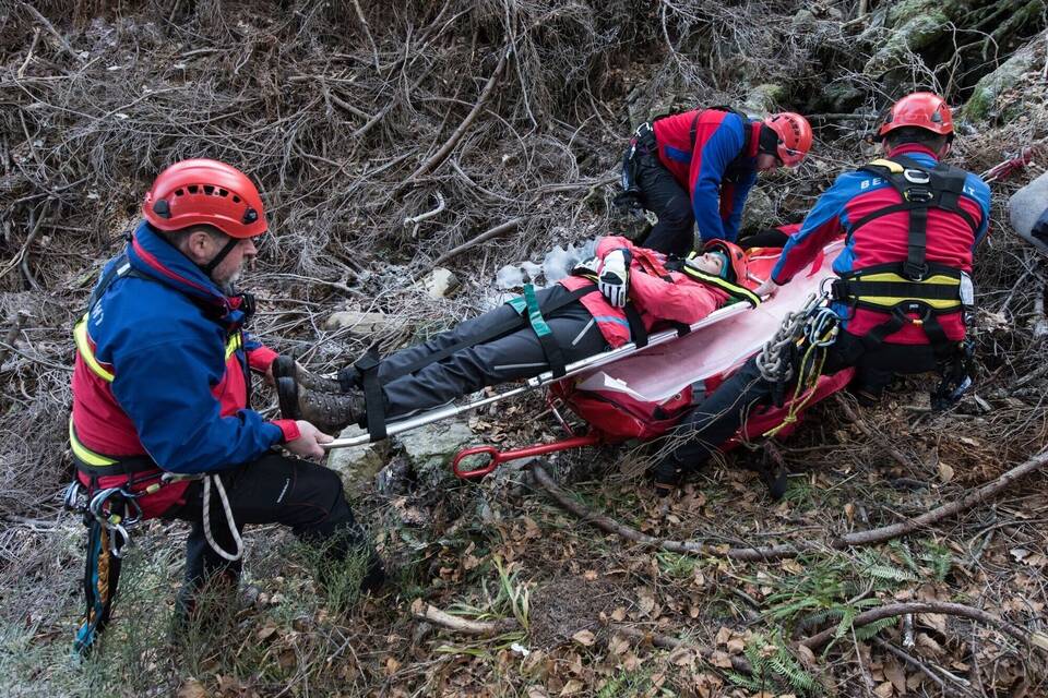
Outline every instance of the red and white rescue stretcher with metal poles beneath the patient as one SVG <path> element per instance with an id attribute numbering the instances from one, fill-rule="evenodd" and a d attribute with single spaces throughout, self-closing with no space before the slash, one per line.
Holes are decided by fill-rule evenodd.
<path id="1" fill-rule="evenodd" d="M 833 261 L 844 249 L 844 241 L 837 240 L 826 245 L 812 264 L 794 279 L 783 286 L 778 292 L 765 299 L 757 308 L 737 302 L 718 309 L 703 320 L 694 323 L 690 332 L 681 336 L 677 329 L 653 332 L 644 347 L 627 344 L 587 359 L 570 363 L 565 374 L 553 377 L 546 372 L 523 381 L 517 387 L 497 395 L 473 399 L 463 404 L 448 405 L 386 424 L 386 435 L 402 434 L 420 426 L 450 419 L 469 410 L 491 405 L 507 398 L 541 387 L 550 387 L 558 397 L 570 395 L 600 395 L 603 400 L 620 401 L 633 406 L 675 404 L 678 408 L 690 408 L 691 390 L 712 390 L 725 377 L 737 370 L 747 359 L 759 351 L 778 330 L 789 313 L 800 311 L 814 296 L 821 296 L 823 282 L 834 276 Z M 748 252 L 749 278 L 746 286 L 757 288 L 769 277 L 778 261 L 781 249 L 760 248 Z M 841 389 L 850 377 L 850 371 L 830 377 L 823 377 L 811 389 L 812 394 L 802 397 L 806 405 L 826 397 Z M 680 405 L 681 395 L 689 397 L 687 405 Z M 452 469 L 460 478 L 479 478 L 492 472 L 501 464 L 544 454 L 594 446 L 603 443 L 618 443 L 630 437 L 617 425 L 602 416 L 587 413 L 580 400 L 564 401 L 583 421 L 587 422 L 585 434 L 575 434 L 561 417 L 559 408 L 550 399 L 550 407 L 568 436 L 546 444 L 535 444 L 512 450 L 499 450 L 490 445 L 473 446 L 460 450 L 452 459 Z M 788 407 L 788 406 L 784 406 Z M 628 408 L 629 409 L 629 408 Z M 681 413 L 684 409 L 679 410 Z M 763 433 L 785 418 L 785 409 L 772 409 L 750 420 L 748 433 Z M 793 425 L 790 426 L 790 429 Z M 657 431 L 657 430 L 656 430 Z M 786 435 L 790 430 L 783 430 Z M 654 435 L 654 432 L 653 432 Z M 336 438 L 324 444 L 325 449 L 360 446 L 371 441 L 369 434 Z M 463 461 L 471 457 L 487 457 L 487 464 L 466 468 Z"/>

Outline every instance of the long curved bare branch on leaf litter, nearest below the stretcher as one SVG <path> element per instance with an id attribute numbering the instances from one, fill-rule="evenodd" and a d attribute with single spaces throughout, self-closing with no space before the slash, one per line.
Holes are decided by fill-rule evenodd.
<path id="1" fill-rule="evenodd" d="M 561 506 L 561 508 L 571 512 L 583 521 L 593 524 L 597 528 L 607 531 L 608 533 L 615 533 L 616 535 L 620 535 L 627 540 L 642 543 L 644 545 L 651 545 L 653 547 L 659 547 L 671 553 L 714 555 L 743 562 L 755 562 L 796 557 L 803 552 L 822 550 L 825 547 L 843 550 L 858 545 L 873 545 L 876 543 L 883 543 L 884 541 L 892 540 L 893 538 L 907 535 L 942 519 L 970 509 L 977 504 L 986 502 L 1002 490 L 1007 489 L 1020 478 L 1039 470 L 1046 462 L 1048 462 L 1048 448 L 1022 465 L 1019 465 L 1008 472 L 1001 474 L 992 482 L 989 482 L 975 492 L 961 497 L 956 502 L 945 504 L 930 512 L 926 512 L 918 517 L 906 519 L 905 521 L 900 521 L 898 524 L 892 524 L 891 526 L 882 526 L 868 531 L 848 533 L 847 535 L 842 535 L 841 538 L 833 539 L 826 543 L 798 542 L 793 544 L 769 545 L 765 547 L 730 547 L 728 550 L 711 545 L 704 541 L 675 541 L 642 533 L 636 529 L 626 526 L 624 524 L 620 524 L 619 521 L 616 521 L 607 516 L 595 514 L 586 508 L 583 504 L 575 502 L 568 495 L 567 492 L 557 486 L 557 484 L 540 465 L 536 464 L 532 466 L 532 473 L 535 476 L 536 482 Z"/>

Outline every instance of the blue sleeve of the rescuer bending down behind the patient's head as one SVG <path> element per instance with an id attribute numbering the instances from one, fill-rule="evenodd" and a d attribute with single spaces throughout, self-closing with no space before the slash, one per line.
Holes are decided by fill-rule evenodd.
<path id="1" fill-rule="evenodd" d="M 703 242 L 726 239 L 720 220 L 720 180 L 742 151 L 742 121 L 729 113 L 691 156 L 691 208 Z"/>

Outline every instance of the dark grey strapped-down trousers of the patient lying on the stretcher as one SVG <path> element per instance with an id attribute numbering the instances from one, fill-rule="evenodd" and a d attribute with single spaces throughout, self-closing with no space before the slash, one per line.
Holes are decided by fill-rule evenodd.
<path id="1" fill-rule="evenodd" d="M 557 285 L 541 289 L 536 297 L 539 306 L 556 302 L 570 291 Z M 546 324 L 570 363 L 600 353 L 608 348 L 600 328 L 579 301 L 550 313 L 544 313 Z M 418 359 L 433 354 L 463 339 L 484 335 L 489 328 L 520 317 L 509 305 L 501 305 L 479 317 L 467 320 L 454 329 L 391 354 L 379 364 L 379 382 L 385 392 L 389 417 L 403 417 L 414 411 L 431 409 L 483 387 L 529 378 L 549 370 L 546 354 L 531 325 L 522 324 L 500 337 L 465 347 L 451 356 L 430 363 L 410 375 L 391 378 L 401 369 Z"/>

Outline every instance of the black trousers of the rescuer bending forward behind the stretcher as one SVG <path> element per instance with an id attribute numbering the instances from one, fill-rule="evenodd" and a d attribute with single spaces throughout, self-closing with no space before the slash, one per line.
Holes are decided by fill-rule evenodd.
<path id="1" fill-rule="evenodd" d="M 654 144 L 654 136 L 651 142 Z M 659 161 L 654 149 L 639 152 L 635 157 L 641 202 L 658 217 L 658 222 L 644 239 L 644 246 L 664 254 L 686 256 L 695 246 L 691 195 Z"/>

